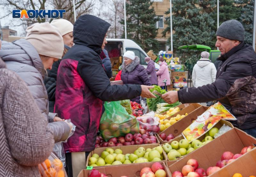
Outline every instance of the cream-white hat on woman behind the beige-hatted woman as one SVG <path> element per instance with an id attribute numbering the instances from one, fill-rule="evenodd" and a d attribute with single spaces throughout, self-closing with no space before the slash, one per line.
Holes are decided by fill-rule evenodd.
<path id="1" fill-rule="evenodd" d="M 58 28 L 58 30 L 61 32 L 61 36 L 64 36 L 67 33 L 73 32 L 74 26 L 68 20 L 65 20 L 65 19 L 52 20 L 50 24 Z"/>

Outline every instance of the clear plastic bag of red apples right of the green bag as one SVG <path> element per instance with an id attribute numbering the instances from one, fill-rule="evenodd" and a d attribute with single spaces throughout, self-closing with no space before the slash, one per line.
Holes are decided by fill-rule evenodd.
<path id="1" fill-rule="evenodd" d="M 155 112 L 151 111 L 147 114 L 137 117 L 139 121 L 140 128 L 146 130 L 147 132 L 159 132 L 159 118 L 155 116 Z"/>

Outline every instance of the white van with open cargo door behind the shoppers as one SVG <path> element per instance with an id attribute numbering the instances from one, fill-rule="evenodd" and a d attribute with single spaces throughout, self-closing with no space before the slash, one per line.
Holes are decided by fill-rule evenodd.
<path id="1" fill-rule="evenodd" d="M 123 56 L 123 54 L 130 50 L 135 53 L 136 56 L 140 58 L 140 64 L 147 67 L 145 62 L 145 57 L 148 57 L 147 53 L 142 50 L 142 48 L 130 39 L 107 39 L 108 43 L 105 49 L 108 51 L 109 57 Z M 123 60 L 122 60 L 123 61 Z M 155 67 L 158 70 L 159 64 L 155 63 Z"/>

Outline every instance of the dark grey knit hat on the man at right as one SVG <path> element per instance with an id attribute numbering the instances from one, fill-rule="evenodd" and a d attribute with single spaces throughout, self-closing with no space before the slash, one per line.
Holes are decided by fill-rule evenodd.
<path id="1" fill-rule="evenodd" d="M 245 40 L 245 29 L 239 21 L 228 20 L 220 25 L 216 36 L 243 42 Z"/>

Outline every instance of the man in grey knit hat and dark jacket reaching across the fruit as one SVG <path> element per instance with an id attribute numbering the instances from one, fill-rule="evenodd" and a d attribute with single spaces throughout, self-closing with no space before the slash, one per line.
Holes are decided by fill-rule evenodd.
<path id="1" fill-rule="evenodd" d="M 203 103 L 219 100 L 236 118 L 231 123 L 256 137 L 256 54 L 245 44 L 245 30 L 237 20 L 220 25 L 216 47 L 221 61 L 216 81 L 202 87 L 184 88 L 162 95 L 167 103 Z"/>

